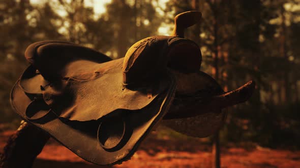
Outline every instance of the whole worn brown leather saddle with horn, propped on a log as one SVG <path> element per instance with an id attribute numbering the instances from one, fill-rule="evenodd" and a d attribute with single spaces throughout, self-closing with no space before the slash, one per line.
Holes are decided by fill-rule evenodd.
<path id="1" fill-rule="evenodd" d="M 199 72 L 200 49 L 183 37 L 183 29 L 200 18 L 196 11 L 176 16 L 171 36 L 142 39 L 117 60 L 64 41 L 34 43 L 25 51 L 31 65 L 13 87 L 11 104 L 24 120 L 83 159 L 121 163 L 167 113 L 175 93 L 180 94 L 178 73 L 209 81 L 193 91 L 212 87 L 214 94 L 224 93 Z M 218 115 L 223 121 L 225 113 Z"/>

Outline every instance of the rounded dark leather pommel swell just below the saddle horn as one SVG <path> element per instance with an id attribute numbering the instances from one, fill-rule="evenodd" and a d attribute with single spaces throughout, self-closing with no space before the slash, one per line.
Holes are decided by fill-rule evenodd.
<path id="1" fill-rule="evenodd" d="M 200 66 L 201 52 L 194 41 L 176 36 L 152 36 L 141 39 L 126 53 L 123 80 L 130 85 L 155 78 L 165 67 L 187 73 L 199 71 Z"/>

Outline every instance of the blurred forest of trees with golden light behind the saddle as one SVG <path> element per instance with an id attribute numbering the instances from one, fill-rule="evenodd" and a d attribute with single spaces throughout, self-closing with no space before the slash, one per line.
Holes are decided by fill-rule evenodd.
<path id="1" fill-rule="evenodd" d="M 144 37 L 169 35 L 174 16 L 190 10 L 203 16 L 186 32 L 201 70 L 225 91 L 257 83 L 250 101 L 228 109 L 221 143 L 299 148 L 299 0 L 0 0 L 0 130 L 20 122 L 9 95 L 28 45 L 67 40 L 117 59 Z"/>

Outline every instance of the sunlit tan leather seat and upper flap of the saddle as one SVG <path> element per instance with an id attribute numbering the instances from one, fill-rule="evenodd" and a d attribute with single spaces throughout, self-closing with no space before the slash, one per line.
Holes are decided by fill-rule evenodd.
<path id="1" fill-rule="evenodd" d="M 89 65 L 86 66 L 89 73 L 86 72 L 83 77 L 82 74 L 75 73 L 66 75 L 62 80 L 47 83 L 40 74 L 34 76 L 23 73 L 21 79 L 25 75 L 33 77 L 26 81 L 20 80 L 20 86 L 26 93 L 41 90 L 36 93 L 42 93 L 44 101 L 59 117 L 78 121 L 97 120 L 116 109 L 142 109 L 168 86 L 168 81 L 161 80 L 148 83 L 151 87 L 138 87 L 134 90 L 124 87 L 122 69 L 119 68 L 122 67 L 123 59 L 102 64 L 78 60 L 67 65 L 67 68 L 73 69 L 72 67 L 84 64 Z M 32 67 L 28 67 L 30 68 Z M 29 72 L 28 69 L 25 72 Z M 33 88 L 33 84 L 29 83 L 35 83 L 36 86 Z M 151 98 L 147 96 L 149 89 L 152 91 Z"/>

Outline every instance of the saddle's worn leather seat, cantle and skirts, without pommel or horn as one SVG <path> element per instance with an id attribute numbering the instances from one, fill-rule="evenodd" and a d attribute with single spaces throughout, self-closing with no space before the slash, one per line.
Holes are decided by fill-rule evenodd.
<path id="1" fill-rule="evenodd" d="M 123 58 L 110 61 L 74 44 L 42 41 L 29 46 L 25 57 L 31 65 L 12 90 L 13 108 L 93 163 L 129 159 L 174 97 L 175 78 L 166 68 L 127 86 Z"/>

